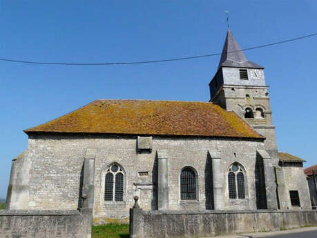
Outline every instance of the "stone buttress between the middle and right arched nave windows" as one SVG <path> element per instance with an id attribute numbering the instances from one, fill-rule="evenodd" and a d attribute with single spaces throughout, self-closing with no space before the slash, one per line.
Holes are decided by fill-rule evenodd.
<path id="1" fill-rule="evenodd" d="M 221 152 L 209 150 L 213 167 L 213 209 L 224 210 L 223 176 L 221 170 Z"/>

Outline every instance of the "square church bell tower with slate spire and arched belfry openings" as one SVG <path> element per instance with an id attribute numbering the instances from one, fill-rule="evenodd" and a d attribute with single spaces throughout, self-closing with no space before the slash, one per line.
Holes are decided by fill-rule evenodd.
<path id="1" fill-rule="evenodd" d="M 265 84 L 264 68 L 244 55 L 228 30 L 218 70 L 209 83 L 210 101 L 228 111 L 236 112 L 260 135 L 266 137 L 265 150 L 278 166 L 276 133 L 269 106 L 269 86 Z"/>

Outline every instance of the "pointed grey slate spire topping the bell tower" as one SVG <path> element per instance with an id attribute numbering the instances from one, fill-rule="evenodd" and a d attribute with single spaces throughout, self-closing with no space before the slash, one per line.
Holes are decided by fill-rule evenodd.
<path id="1" fill-rule="evenodd" d="M 239 68 L 263 68 L 256 63 L 248 61 L 241 50 L 238 42 L 233 37 L 231 30 L 228 29 L 226 41 L 224 41 L 224 48 L 219 62 L 220 67 L 239 67 Z"/>

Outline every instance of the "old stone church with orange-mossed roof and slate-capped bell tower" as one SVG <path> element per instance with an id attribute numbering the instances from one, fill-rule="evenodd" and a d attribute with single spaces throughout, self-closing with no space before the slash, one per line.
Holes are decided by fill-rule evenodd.
<path id="1" fill-rule="evenodd" d="M 96 100 L 24 130 L 8 209 L 81 206 L 93 161 L 95 222 L 144 210 L 311 209 L 302 159 L 278 152 L 264 68 L 230 30 L 209 102 Z"/>

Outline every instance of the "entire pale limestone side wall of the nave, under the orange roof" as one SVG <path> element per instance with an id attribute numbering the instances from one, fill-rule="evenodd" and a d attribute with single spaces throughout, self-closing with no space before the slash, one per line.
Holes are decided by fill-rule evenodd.
<path id="1" fill-rule="evenodd" d="M 169 209 L 213 209 L 211 158 L 220 151 L 224 209 L 256 209 L 256 150 L 262 141 L 204 137 L 153 137 L 153 149 L 137 150 L 137 136 L 32 135 L 28 141 L 28 209 L 76 209 L 81 196 L 87 149 L 95 151 L 95 222 L 126 219 L 133 196 L 140 206 L 157 209 L 157 150 L 168 157 Z M 246 199 L 229 199 L 227 172 L 232 163 L 245 170 Z M 106 170 L 117 163 L 124 172 L 123 201 L 104 201 Z M 198 175 L 198 198 L 180 199 L 180 172 L 189 166 Z"/>

